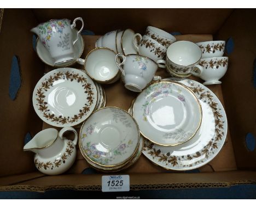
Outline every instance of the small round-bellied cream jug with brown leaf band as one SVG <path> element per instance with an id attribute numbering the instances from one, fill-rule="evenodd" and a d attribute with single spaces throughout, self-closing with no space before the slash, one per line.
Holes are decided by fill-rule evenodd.
<path id="1" fill-rule="evenodd" d="M 63 137 L 66 131 L 75 134 L 73 141 Z M 45 129 L 37 133 L 23 150 L 36 154 L 34 164 L 40 172 L 57 175 L 66 172 L 74 163 L 77 156 L 76 144 L 77 132 L 72 127 L 64 127 L 60 132 L 56 129 Z"/>

